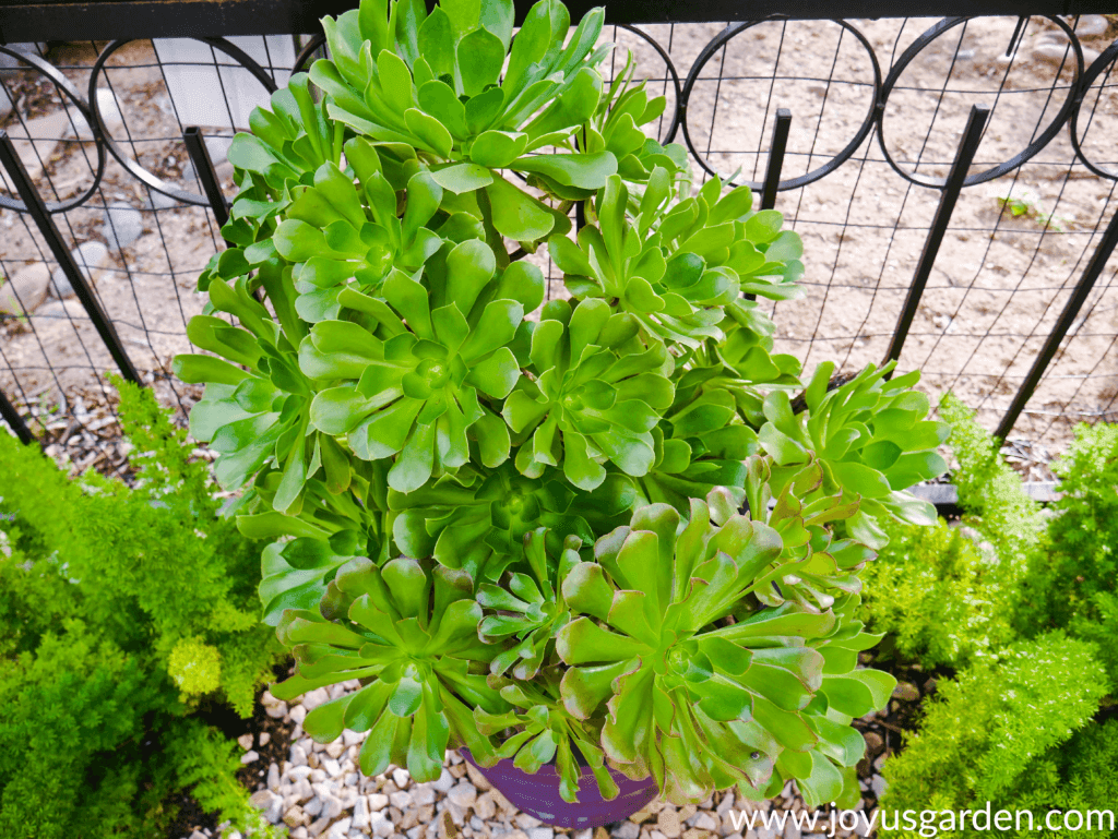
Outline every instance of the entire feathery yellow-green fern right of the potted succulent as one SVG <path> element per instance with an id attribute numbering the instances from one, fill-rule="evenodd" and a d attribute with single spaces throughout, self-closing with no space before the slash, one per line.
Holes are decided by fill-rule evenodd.
<path id="1" fill-rule="evenodd" d="M 865 611 L 894 656 L 959 673 L 939 679 L 919 731 L 885 763 L 881 804 L 992 801 L 1033 814 L 1032 828 L 1023 818 L 999 835 L 1054 836 L 1050 810 L 1078 810 L 1086 824 L 1112 810 L 1118 790 L 1118 609 L 1107 559 L 1118 437 L 1114 426 L 1078 428 L 1053 463 L 1061 497 L 1042 512 L 972 411 L 949 394 L 940 411 L 954 426 L 964 526 L 888 523 L 890 544 L 865 574 Z M 940 836 L 973 832 L 948 824 Z M 1080 832 L 1114 828 L 1096 818 Z"/>

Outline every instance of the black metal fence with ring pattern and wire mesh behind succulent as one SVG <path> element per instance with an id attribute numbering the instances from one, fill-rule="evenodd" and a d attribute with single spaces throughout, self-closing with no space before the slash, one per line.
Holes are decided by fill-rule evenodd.
<path id="1" fill-rule="evenodd" d="M 0 7 L 0 409 L 17 433 L 107 425 L 106 370 L 197 398 L 169 361 L 224 247 L 229 137 L 321 49 L 292 32 L 345 6 Z M 1118 16 L 799 6 L 607 7 L 610 69 L 633 51 L 697 183 L 750 182 L 803 236 L 807 297 L 776 306 L 778 347 L 808 366 L 900 359 L 1035 450 L 1118 419 Z"/>

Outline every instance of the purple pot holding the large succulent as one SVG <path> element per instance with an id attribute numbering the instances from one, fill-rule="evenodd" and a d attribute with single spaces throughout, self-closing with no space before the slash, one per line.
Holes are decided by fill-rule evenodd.
<path id="1" fill-rule="evenodd" d="M 596 828 L 622 821 L 644 808 L 657 794 L 652 776 L 632 781 L 616 770 L 609 770 L 620 790 L 617 798 L 607 801 L 598 792 L 598 782 L 589 768 L 582 766 L 578 781 L 578 803 L 568 804 L 559 795 L 559 772 L 553 764 L 540 766 L 530 775 L 517 769 L 511 759 L 498 761 L 493 766 L 479 766 L 468 749 L 459 750 L 462 756 L 482 773 L 486 781 L 510 802 L 529 816 L 557 828 Z"/>

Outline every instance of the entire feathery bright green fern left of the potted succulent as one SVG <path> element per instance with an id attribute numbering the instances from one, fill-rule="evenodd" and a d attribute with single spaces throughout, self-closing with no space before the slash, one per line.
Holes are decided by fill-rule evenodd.
<path id="1" fill-rule="evenodd" d="M 165 835 L 190 788 L 263 830 L 240 750 L 191 715 L 202 697 L 249 715 L 282 652 L 254 606 L 259 546 L 216 516 L 151 392 L 119 387 L 133 488 L 0 435 L 0 832 Z"/>

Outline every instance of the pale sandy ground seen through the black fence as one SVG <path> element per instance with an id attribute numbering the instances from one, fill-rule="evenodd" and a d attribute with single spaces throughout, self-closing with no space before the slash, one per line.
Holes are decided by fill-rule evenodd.
<path id="1" fill-rule="evenodd" d="M 1013 158 L 1052 122 L 1073 73 L 1033 57 L 1033 49 L 1054 30 L 1052 23 L 1035 19 L 1010 61 L 1004 54 L 1014 22 L 993 18 L 950 29 L 901 74 L 883 116 L 884 146 L 901 170 L 922 181 L 946 174 L 974 103 L 994 111 L 973 172 Z M 851 23 L 872 45 L 885 76 L 934 21 Z M 606 36 L 634 50 L 638 76 L 667 94 L 671 111 L 674 93 L 664 80 L 663 60 L 637 36 L 612 29 Z M 681 82 L 689 70 L 695 74 L 688 135 L 708 165 L 724 177 L 740 170 L 739 179 L 760 180 L 777 107 L 793 115 L 785 178 L 824 165 L 866 117 L 873 84 L 870 55 L 836 23 L 758 25 L 737 34 L 698 70 L 692 69 L 695 58 L 721 26 L 644 29 L 670 49 Z M 1083 42 L 1101 50 L 1116 30 L 1111 25 L 1106 35 Z M 94 45 L 69 45 L 56 48 L 50 58 L 85 89 L 95 55 Z M 187 161 L 177 140 L 181 128 L 150 45 L 139 41 L 119 51 L 110 61 L 107 83 L 123 113 L 124 125 L 114 128 L 114 136 L 129 142 L 148 169 L 181 179 Z M 1116 87 L 1103 76 L 1089 92 L 1091 120 L 1080 123 L 1080 136 L 1093 161 L 1118 173 L 1118 154 L 1112 141 L 1107 144 L 1108 136 L 1118 135 Z M 51 112 L 50 95 L 57 111 L 57 94 L 49 85 L 50 95 L 42 95 L 41 86 L 38 99 L 35 90 L 31 94 L 25 109 L 32 116 Z M 662 133 L 666 122 L 659 126 Z M 15 116 L 8 127 L 13 135 L 18 132 Z M 989 427 L 1008 406 L 1114 213 L 1114 204 L 1107 203 L 1112 182 L 1074 160 L 1069 136 L 1064 127 L 1023 166 L 964 191 L 901 355 L 902 368 L 923 370 L 930 392 L 954 390 Z M 683 140 L 682 130 L 675 139 Z M 37 144 L 38 154 L 30 144 L 23 149 L 29 166 L 50 152 L 47 174 L 39 175 L 44 191 L 56 189 L 65 197 L 87 187 L 92 144 Z M 803 359 L 808 370 L 826 359 L 847 370 L 880 362 L 938 197 L 936 189 L 913 185 L 893 171 L 877 132 L 837 171 L 781 192 L 777 209 L 804 237 L 807 271 L 805 299 L 776 307 L 779 349 Z M 1004 206 L 1006 198 L 1021 214 Z M 136 365 L 161 378 L 171 355 L 188 346 L 184 322 L 203 303 L 192 290 L 193 282 L 215 250 L 216 230 L 202 209 L 152 211 L 148 190 L 111 162 L 91 206 L 59 217 L 64 236 L 74 242 L 103 238 L 97 207 L 120 200 L 148 208 L 145 230 L 114 255 L 97 292 Z M 0 270 L 8 276 L 45 252 L 25 217 L 10 211 L 0 211 Z M 546 265 L 546 258 L 540 261 Z M 1077 321 L 1017 423 L 1014 436 L 1031 440 L 1036 450 L 1061 448 L 1069 437 L 1069 419 L 1109 417 L 1118 393 L 1112 346 L 1118 333 L 1116 268 L 1118 257 L 1111 257 L 1086 317 Z M 555 283 L 553 292 L 560 289 Z M 111 359 L 76 302 L 49 302 L 27 320 L 9 321 L 0 331 L 0 387 L 7 393 L 57 400 L 59 388 L 67 393 L 98 389 L 96 374 L 111 366 Z M 181 384 L 168 388 L 174 402 L 189 402 L 188 390 Z"/>

